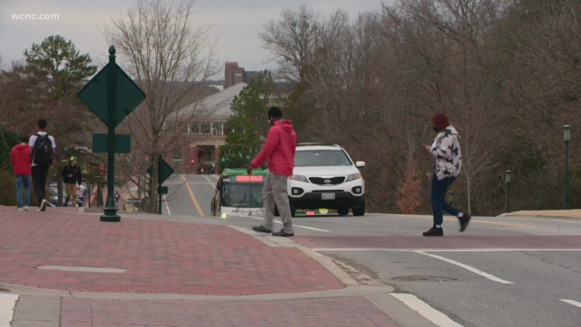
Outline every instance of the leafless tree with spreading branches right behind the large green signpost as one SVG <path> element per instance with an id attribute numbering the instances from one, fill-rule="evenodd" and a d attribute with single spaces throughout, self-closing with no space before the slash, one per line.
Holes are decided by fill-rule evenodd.
<path id="1" fill-rule="evenodd" d="M 119 49 L 121 62 L 127 58 L 128 72 L 147 95 L 124 127 L 132 135 L 133 150 L 143 152 L 146 159 L 129 156 L 132 173 L 144 174 L 154 166 L 148 188 L 152 212 L 157 210 L 157 158 L 180 148 L 189 124 L 212 113 L 211 108 L 196 105 L 185 108 L 203 96 L 205 81 L 220 72 L 217 40 L 209 34 L 212 26 L 192 27 L 195 3 L 137 0 L 124 17 L 110 17 L 111 23 L 103 27 L 107 41 Z"/>

